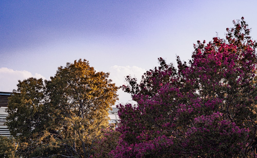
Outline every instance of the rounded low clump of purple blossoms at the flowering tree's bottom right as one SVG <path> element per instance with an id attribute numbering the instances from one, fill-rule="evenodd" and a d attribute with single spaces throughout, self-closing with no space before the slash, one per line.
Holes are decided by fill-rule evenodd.
<path id="1" fill-rule="evenodd" d="M 241 128 L 234 122 L 224 120 L 222 113 L 198 116 L 194 127 L 186 132 L 184 148 L 195 155 L 208 157 L 236 157 L 243 151 L 244 140 L 249 138 L 250 130 Z M 195 139 L 197 138 L 197 139 Z"/>

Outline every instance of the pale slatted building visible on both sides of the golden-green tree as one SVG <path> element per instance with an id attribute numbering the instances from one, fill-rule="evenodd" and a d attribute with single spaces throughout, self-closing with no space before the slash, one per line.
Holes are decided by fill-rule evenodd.
<path id="1" fill-rule="evenodd" d="M 5 112 L 5 109 L 8 105 L 8 97 L 11 96 L 10 92 L 0 92 L 0 135 L 10 136 L 10 131 L 7 129 L 7 126 L 4 125 L 6 122 L 6 116 L 8 113 Z M 118 109 L 112 108 L 108 111 L 109 113 L 109 123 L 116 123 L 119 120 Z"/>

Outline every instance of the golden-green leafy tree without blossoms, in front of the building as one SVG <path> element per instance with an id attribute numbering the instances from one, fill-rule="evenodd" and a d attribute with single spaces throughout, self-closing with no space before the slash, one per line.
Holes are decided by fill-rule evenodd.
<path id="1" fill-rule="evenodd" d="M 81 59 L 59 67 L 49 81 L 19 81 L 9 98 L 7 126 L 22 157 L 90 157 L 108 126 L 118 87 L 109 73 Z"/>

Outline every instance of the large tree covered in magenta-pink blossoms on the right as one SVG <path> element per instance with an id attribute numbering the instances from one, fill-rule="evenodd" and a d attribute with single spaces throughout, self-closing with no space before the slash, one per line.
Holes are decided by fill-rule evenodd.
<path id="1" fill-rule="evenodd" d="M 114 157 L 256 157 L 256 41 L 242 17 L 226 39 L 197 41 L 187 64 L 159 58 L 124 91 Z"/>

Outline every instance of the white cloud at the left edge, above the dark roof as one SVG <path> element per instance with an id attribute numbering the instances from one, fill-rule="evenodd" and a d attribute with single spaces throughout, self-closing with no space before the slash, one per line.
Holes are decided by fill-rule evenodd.
<path id="1" fill-rule="evenodd" d="M 8 68 L 0 68 L 0 91 L 1 92 L 12 92 L 13 89 L 17 89 L 18 80 L 24 80 L 29 77 L 43 78 L 44 76 L 35 73 L 33 75 L 31 72 L 23 70 L 13 70 Z"/>

